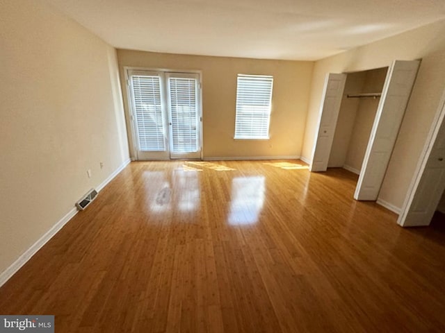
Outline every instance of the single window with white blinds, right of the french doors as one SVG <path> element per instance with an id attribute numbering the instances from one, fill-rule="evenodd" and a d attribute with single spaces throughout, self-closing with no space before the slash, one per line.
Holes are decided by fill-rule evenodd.
<path id="1" fill-rule="evenodd" d="M 268 139 L 273 76 L 238 74 L 235 139 Z"/>

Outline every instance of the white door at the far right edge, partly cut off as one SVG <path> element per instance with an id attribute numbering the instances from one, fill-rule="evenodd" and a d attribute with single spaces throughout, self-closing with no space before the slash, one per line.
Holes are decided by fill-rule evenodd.
<path id="1" fill-rule="evenodd" d="M 439 108 L 397 223 L 429 225 L 445 189 L 445 106 Z"/>

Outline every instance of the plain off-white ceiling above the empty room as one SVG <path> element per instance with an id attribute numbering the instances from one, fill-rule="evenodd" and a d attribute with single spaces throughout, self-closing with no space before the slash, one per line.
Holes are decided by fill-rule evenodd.
<path id="1" fill-rule="evenodd" d="M 118 49 L 318 60 L 445 18 L 445 0 L 44 0 Z"/>

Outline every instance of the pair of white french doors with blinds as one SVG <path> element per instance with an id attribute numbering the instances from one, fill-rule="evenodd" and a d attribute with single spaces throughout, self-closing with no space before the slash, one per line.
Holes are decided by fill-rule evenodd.
<path id="1" fill-rule="evenodd" d="M 138 160 L 200 159 L 200 74 L 127 69 Z"/>

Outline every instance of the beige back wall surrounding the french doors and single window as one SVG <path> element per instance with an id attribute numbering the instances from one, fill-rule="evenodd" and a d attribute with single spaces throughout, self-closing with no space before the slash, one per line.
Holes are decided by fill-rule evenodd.
<path id="1" fill-rule="evenodd" d="M 118 50 L 124 66 L 202 71 L 204 158 L 300 156 L 313 62 Z M 273 75 L 269 140 L 234 140 L 236 74 Z M 124 100 L 127 89 L 123 89 Z M 124 103 L 127 108 L 127 103 Z M 129 130 L 130 132 L 130 130 Z M 131 139 L 130 139 L 131 142 Z"/>

